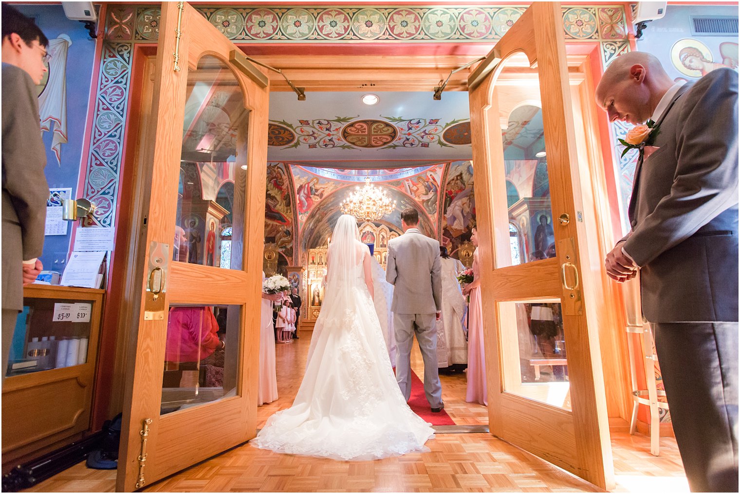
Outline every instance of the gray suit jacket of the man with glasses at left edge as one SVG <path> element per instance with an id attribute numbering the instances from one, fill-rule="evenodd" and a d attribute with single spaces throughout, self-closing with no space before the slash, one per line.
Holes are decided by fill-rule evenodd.
<path id="1" fill-rule="evenodd" d="M 2 308 L 23 308 L 21 263 L 44 248 L 49 186 L 36 84 L 2 64 Z"/>

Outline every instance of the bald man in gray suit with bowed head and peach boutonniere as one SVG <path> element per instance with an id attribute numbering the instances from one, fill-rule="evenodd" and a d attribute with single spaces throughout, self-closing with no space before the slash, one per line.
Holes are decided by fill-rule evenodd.
<path id="1" fill-rule="evenodd" d="M 653 55 L 627 53 L 596 103 L 610 121 L 652 127 L 633 141 L 632 229 L 607 273 L 621 282 L 639 271 L 691 490 L 737 492 L 738 74 L 674 83 Z"/>

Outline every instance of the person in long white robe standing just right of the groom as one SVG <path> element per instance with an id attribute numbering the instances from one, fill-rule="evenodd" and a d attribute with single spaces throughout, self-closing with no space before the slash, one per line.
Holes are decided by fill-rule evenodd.
<path id="1" fill-rule="evenodd" d="M 446 350 L 446 364 L 440 360 L 440 367 L 468 365 L 468 342 L 465 341 L 465 331 L 462 329 L 462 317 L 465 315 L 465 297 L 462 296 L 457 275 L 465 270 L 460 260 L 450 257 L 447 248 L 440 246 L 440 262 L 442 264 L 442 317 L 438 331 L 437 349 L 439 350 L 440 336 L 444 334 Z M 438 329 L 439 329 L 438 326 Z"/>

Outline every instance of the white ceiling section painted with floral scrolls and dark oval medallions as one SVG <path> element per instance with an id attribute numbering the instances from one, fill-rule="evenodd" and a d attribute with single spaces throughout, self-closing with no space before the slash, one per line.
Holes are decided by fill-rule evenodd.
<path id="1" fill-rule="evenodd" d="M 378 92 L 371 106 L 362 103 L 365 94 L 316 92 L 296 101 L 292 93 L 271 93 L 269 160 L 471 158 L 466 92 L 445 92 L 442 101 L 431 92 Z"/>

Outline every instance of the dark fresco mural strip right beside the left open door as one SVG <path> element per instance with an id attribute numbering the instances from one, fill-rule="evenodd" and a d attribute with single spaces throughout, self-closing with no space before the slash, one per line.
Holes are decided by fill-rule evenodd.
<path id="1" fill-rule="evenodd" d="M 291 264 L 295 220 L 291 178 L 283 163 L 268 163 L 265 194 L 265 241 L 275 243 L 286 262 Z"/>

